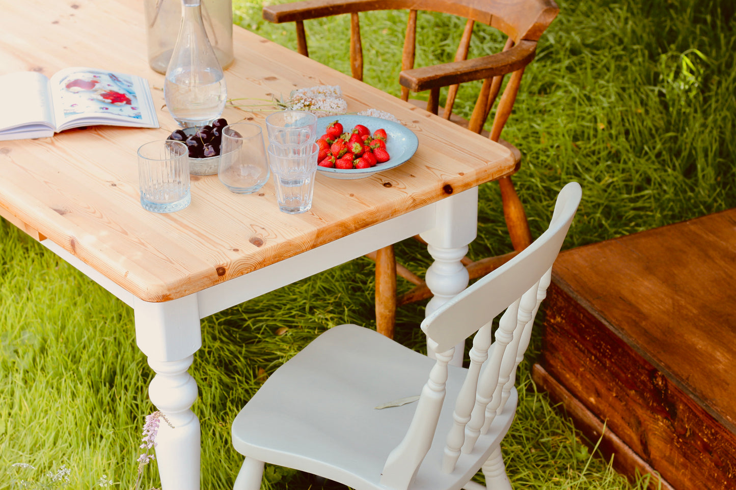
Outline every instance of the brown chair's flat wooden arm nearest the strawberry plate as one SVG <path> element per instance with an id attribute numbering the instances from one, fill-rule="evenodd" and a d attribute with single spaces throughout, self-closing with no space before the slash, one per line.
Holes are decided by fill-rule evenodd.
<path id="1" fill-rule="evenodd" d="M 399 82 L 414 92 L 472 82 L 524 68 L 536 54 L 537 42 L 520 40 L 511 49 L 472 60 L 453 61 L 402 71 Z"/>

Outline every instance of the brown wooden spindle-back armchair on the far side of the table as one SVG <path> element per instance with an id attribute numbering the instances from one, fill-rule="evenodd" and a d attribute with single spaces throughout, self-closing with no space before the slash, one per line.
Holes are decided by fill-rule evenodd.
<path id="1" fill-rule="evenodd" d="M 519 90 L 524 68 L 537 49 L 537 40 L 556 17 L 559 8 L 553 0 L 307 0 L 297 3 L 272 5 L 263 8 L 263 18 L 282 23 L 294 22 L 297 27 L 297 49 L 308 56 L 304 21 L 330 15 L 350 14 L 350 68 L 353 77 L 363 79 L 364 57 L 361 45 L 361 29 L 358 13 L 369 10 L 408 10 L 408 25 L 403 46 L 401 97 L 408 100 L 409 92 L 429 90 L 426 109 L 437 114 L 439 111 L 439 90 L 447 89 L 447 102 L 442 117 L 462 124 L 473 132 L 484 132 L 483 127 L 497 99 L 503 84 L 503 77 L 511 74 L 509 82 L 500 97 L 489 138 L 509 147 L 520 167 L 521 154 L 510 143 L 500 140 L 506 120 Z M 467 18 L 459 43 L 455 61 L 442 65 L 414 68 L 414 54 L 417 44 L 417 11 L 428 10 Z M 503 52 L 467 60 L 470 40 L 475 22 L 489 24 L 506 36 Z M 470 121 L 453 115 L 453 104 L 459 84 L 482 79 L 483 85 L 475 102 Z M 414 102 L 414 101 L 412 101 Z M 419 101 L 416 101 L 419 102 Z M 509 229 L 514 252 L 495 258 L 473 261 L 464 258 L 470 279 L 481 277 L 509 260 L 515 253 L 531 243 L 531 234 L 524 207 L 517 196 L 511 180 L 506 175 L 498 180 L 503 202 L 506 227 Z M 368 255 L 376 261 L 376 323 L 378 331 L 393 337 L 397 305 L 419 301 L 431 297 L 424 281 L 406 267 L 397 265 L 393 246 L 386 247 Z M 396 275 L 406 278 L 416 287 L 396 297 Z"/>

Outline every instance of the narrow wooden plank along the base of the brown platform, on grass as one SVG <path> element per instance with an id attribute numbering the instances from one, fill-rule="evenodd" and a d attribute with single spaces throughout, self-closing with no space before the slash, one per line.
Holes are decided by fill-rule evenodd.
<path id="1" fill-rule="evenodd" d="M 613 467 L 623 475 L 627 475 L 631 483 L 635 482 L 636 475 L 651 475 L 648 489 L 651 490 L 674 490 L 673 487 L 662 478 L 657 470 L 649 466 L 646 461 L 631 450 L 624 441 L 618 437 L 604 421 L 598 418 L 586 408 L 570 391 L 557 383 L 545 369 L 539 364 L 532 366 L 531 378 L 542 391 L 546 391 L 553 403 L 559 403 L 565 412 L 575 421 L 575 426 L 586 436 L 584 442 L 588 447 L 597 447 L 604 455 L 606 461 L 613 458 Z"/>

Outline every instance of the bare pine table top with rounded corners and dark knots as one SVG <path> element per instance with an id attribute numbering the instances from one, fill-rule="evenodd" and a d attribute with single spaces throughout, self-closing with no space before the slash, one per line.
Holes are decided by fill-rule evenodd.
<path id="1" fill-rule="evenodd" d="M 0 74 L 68 66 L 149 80 L 159 129 L 88 127 L 53 138 L 0 141 L 0 216 L 49 238 L 149 302 L 201 291 L 512 171 L 509 150 L 412 104 L 234 26 L 228 98 L 288 97 L 294 88 L 339 85 L 348 112 L 394 114 L 419 138 L 402 166 L 361 180 L 319 175 L 311 211 L 278 210 L 269 180 L 230 193 L 216 175 L 192 176 L 191 205 L 149 213 L 138 194 L 138 146 L 176 129 L 163 75 L 149 68 L 139 0 L 26 0 L 3 6 Z M 227 107 L 223 117 L 264 126 L 269 113 Z M 265 133 L 265 131 L 264 131 Z"/>

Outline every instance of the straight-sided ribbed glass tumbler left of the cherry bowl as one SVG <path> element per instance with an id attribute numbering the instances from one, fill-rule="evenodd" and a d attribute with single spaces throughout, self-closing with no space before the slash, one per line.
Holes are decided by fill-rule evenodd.
<path id="1" fill-rule="evenodd" d="M 182 210 L 191 202 L 189 150 L 181 141 L 151 141 L 138 148 L 141 205 L 154 213 Z"/>

